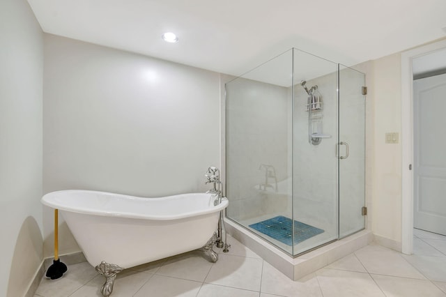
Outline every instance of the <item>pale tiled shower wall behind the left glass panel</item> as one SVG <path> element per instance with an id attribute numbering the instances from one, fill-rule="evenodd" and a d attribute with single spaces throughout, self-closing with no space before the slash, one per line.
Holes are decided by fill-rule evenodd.
<path id="1" fill-rule="evenodd" d="M 275 167 L 285 180 L 289 164 L 289 89 L 238 78 L 226 85 L 226 195 L 229 218 L 245 220 L 265 213 L 286 211 L 287 198 L 277 203 L 259 190 L 265 169 Z M 272 183 L 273 178 L 269 181 Z"/>

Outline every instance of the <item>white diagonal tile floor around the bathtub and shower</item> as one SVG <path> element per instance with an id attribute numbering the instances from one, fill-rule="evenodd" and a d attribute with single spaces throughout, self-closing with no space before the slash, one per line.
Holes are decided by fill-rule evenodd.
<path id="1" fill-rule="evenodd" d="M 215 264 L 194 251 L 123 271 L 112 297 L 446 296 L 446 236 L 414 234 L 413 255 L 372 243 L 296 282 L 229 237 Z M 103 282 L 88 263 L 70 265 L 59 280 L 43 278 L 35 297 L 101 296 Z"/>

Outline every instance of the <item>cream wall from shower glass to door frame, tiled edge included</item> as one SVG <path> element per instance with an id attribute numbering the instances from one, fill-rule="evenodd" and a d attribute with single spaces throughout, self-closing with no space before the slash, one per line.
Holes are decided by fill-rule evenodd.
<path id="1" fill-rule="evenodd" d="M 378 243 L 401 250 L 401 54 L 354 68 L 366 74 L 367 229 Z M 385 144 L 398 132 L 399 144 Z"/>

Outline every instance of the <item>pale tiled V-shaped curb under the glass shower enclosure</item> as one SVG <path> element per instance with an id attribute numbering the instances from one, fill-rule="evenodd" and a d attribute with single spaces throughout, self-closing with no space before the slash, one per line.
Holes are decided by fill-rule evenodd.
<path id="1" fill-rule="evenodd" d="M 299 280 L 305 275 L 314 273 L 318 269 L 355 252 L 355 250 L 364 248 L 374 239 L 371 231 L 364 229 L 339 241 L 323 245 L 321 248 L 293 258 L 231 220 L 225 218 L 224 224 L 228 234 L 256 254 L 259 254 L 262 259 L 291 278 L 291 280 Z"/>

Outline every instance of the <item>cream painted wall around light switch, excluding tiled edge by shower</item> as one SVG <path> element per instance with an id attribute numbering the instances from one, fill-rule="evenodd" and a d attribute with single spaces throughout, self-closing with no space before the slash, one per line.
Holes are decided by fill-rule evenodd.
<path id="1" fill-rule="evenodd" d="M 378 242 L 401 248 L 401 54 L 374 61 L 374 197 L 372 231 Z M 398 144 L 385 144 L 398 132 Z"/>

